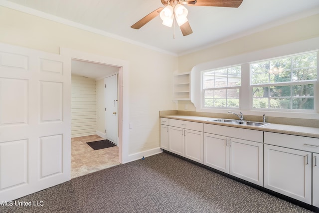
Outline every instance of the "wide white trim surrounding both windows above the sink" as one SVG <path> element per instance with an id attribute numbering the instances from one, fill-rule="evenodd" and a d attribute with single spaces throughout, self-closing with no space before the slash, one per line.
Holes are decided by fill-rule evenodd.
<path id="1" fill-rule="evenodd" d="M 313 112 L 293 112 L 282 111 L 278 109 L 264 110 L 252 108 L 252 89 L 250 86 L 250 69 L 249 62 L 251 61 L 264 61 L 269 58 L 278 58 L 285 55 L 295 55 L 303 52 L 312 52 L 319 50 L 319 37 L 302 40 L 294 43 L 288 43 L 268 49 L 262 49 L 258 51 L 248 52 L 240 55 L 235 55 L 227 58 L 222 58 L 214 61 L 209 61 L 201 64 L 197 64 L 191 70 L 191 102 L 195 106 L 197 112 L 210 112 L 210 113 L 227 113 L 228 109 L 219 108 L 203 108 L 202 107 L 202 78 L 201 71 L 209 69 L 217 69 L 219 67 L 229 67 L 233 64 L 241 64 L 241 89 L 240 89 L 240 109 L 234 110 L 234 112 L 242 112 L 244 115 L 261 115 L 266 113 L 267 116 L 273 117 L 287 117 L 287 118 L 305 118 L 305 119 L 319 119 L 319 92 L 315 94 L 314 102 L 315 109 Z M 317 57 L 319 60 L 319 57 Z M 319 61 L 317 62 L 317 66 Z M 319 69 L 317 69 L 319 76 Z M 319 78 L 314 85 L 316 91 L 319 90 Z M 250 98 L 251 97 L 251 98 Z"/>

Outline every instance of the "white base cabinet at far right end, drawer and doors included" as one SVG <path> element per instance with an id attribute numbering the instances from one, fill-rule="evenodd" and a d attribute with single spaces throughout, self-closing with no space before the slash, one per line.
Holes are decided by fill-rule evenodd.
<path id="1" fill-rule="evenodd" d="M 319 207 L 319 139 L 265 132 L 264 143 L 265 188 Z"/>

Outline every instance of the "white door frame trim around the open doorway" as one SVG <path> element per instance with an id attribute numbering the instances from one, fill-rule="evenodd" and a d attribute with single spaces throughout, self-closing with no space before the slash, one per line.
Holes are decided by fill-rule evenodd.
<path id="1" fill-rule="evenodd" d="M 60 47 L 60 54 L 68 56 L 71 62 L 83 60 L 93 63 L 107 64 L 119 67 L 118 93 L 119 93 L 119 162 L 121 164 L 130 162 L 129 158 L 129 62 L 121 59 L 110 58 L 102 55 L 81 52 L 69 48 Z M 70 82 L 71 83 L 71 82 Z M 71 109 L 70 109 L 71 111 Z"/>

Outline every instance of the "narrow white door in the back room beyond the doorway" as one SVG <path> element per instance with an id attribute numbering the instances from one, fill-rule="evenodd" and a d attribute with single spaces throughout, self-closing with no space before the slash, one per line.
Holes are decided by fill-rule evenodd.
<path id="1" fill-rule="evenodd" d="M 106 139 L 118 144 L 118 78 L 117 74 L 105 78 Z"/>

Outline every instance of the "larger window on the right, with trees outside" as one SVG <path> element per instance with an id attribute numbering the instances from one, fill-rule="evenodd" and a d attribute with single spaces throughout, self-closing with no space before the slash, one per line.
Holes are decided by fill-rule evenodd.
<path id="1" fill-rule="evenodd" d="M 314 110 L 317 52 L 250 64 L 253 109 Z"/>

